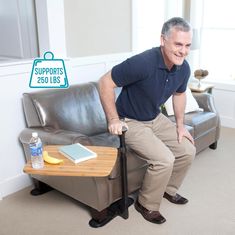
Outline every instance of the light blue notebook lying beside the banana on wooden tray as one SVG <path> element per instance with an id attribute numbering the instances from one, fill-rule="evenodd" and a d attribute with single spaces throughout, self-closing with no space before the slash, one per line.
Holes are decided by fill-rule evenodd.
<path id="1" fill-rule="evenodd" d="M 97 156 L 95 152 L 79 143 L 61 146 L 59 147 L 59 152 L 74 163 L 86 161 Z"/>

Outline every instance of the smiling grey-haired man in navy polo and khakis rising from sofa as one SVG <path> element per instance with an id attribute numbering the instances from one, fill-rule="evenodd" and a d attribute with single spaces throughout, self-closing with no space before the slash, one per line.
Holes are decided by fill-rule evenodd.
<path id="1" fill-rule="evenodd" d="M 172 18 L 164 23 L 160 39 L 160 47 L 114 66 L 99 81 L 110 133 L 121 134 L 120 119 L 124 119 L 126 144 L 149 164 L 135 208 L 157 224 L 166 221 L 159 212 L 163 197 L 175 204 L 188 202 L 177 190 L 195 156 L 193 138 L 183 124 L 190 25 L 182 18 Z M 122 87 L 116 105 L 115 87 Z M 159 108 L 172 94 L 176 125 Z"/>

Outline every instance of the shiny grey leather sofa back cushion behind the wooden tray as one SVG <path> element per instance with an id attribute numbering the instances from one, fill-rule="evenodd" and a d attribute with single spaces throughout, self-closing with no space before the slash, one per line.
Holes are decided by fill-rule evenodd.
<path id="1" fill-rule="evenodd" d="M 30 97 L 41 126 L 95 135 L 107 131 L 105 114 L 95 83 L 70 86 L 68 89 L 49 89 L 24 94 Z"/>

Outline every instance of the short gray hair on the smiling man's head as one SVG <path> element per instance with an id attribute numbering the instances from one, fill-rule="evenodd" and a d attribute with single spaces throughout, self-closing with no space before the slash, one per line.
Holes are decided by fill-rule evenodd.
<path id="1" fill-rule="evenodd" d="M 191 25 L 181 17 L 173 17 L 166 21 L 162 26 L 162 35 L 169 36 L 172 28 L 183 32 L 191 31 Z"/>

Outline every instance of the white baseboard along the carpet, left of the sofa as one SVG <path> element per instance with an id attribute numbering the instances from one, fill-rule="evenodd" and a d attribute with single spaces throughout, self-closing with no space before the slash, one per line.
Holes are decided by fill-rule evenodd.
<path id="1" fill-rule="evenodd" d="M 20 174 L 0 182 L 0 200 L 23 188 L 32 185 L 31 178 L 26 174 Z"/>

